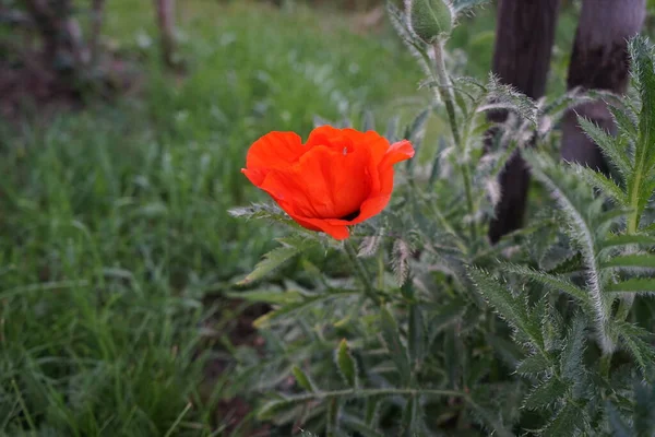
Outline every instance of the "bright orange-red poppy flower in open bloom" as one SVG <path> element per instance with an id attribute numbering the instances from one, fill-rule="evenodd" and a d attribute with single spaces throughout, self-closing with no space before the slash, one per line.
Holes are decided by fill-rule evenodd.
<path id="1" fill-rule="evenodd" d="M 302 144 L 294 132 L 255 141 L 241 172 L 301 226 L 336 239 L 380 213 L 393 191 L 393 165 L 414 156 L 409 141 L 390 144 L 373 131 L 314 129 Z"/>

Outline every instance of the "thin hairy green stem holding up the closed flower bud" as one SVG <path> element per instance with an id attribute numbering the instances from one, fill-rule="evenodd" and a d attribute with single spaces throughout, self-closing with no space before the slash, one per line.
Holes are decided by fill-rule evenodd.
<path id="1" fill-rule="evenodd" d="M 434 48 L 434 68 L 432 69 L 434 79 L 437 81 L 438 96 L 445 105 L 445 113 L 448 114 L 448 121 L 453 135 L 453 142 L 460 152 L 464 152 L 464 144 L 462 144 L 462 138 L 460 137 L 460 129 L 457 125 L 457 118 L 455 116 L 455 105 L 453 104 L 453 94 L 451 90 L 450 79 L 448 78 L 448 71 L 445 70 L 445 61 L 443 59 L 443 45 L 444 42 L 437 39 L 432 47 Z M 468 214 L 473 220 L 475 214 L 475 205 L 473 202 L 473 193 L 471 188 L 471 169 L 467 163 L 457 163 L 457 167 L 462 173 L 462 179 L 464 179 L 464 192 L 466 196 L 466 206 L 468 208 Z M 471 223 L 472 237 L 476 237 L 475 223 Z"/>

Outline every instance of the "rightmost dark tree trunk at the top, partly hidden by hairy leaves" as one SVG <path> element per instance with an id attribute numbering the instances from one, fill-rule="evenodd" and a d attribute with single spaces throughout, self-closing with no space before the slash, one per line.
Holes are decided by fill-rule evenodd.
<path id="1" fill-rule="evenodd" d="M 569 67 L 569 88 L 624 93 L 630 68 L 628 39 L 639 33 L 645 15 L 646 0 L 585 0 Z M 607 173 L 603 154 L 581 131 L 576 115 L 616 132 L 603 102 L 570 109 L 562 122 L 562 157 Z"/>

